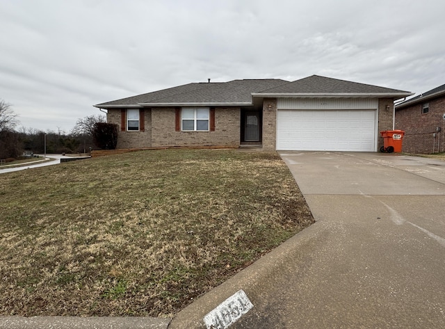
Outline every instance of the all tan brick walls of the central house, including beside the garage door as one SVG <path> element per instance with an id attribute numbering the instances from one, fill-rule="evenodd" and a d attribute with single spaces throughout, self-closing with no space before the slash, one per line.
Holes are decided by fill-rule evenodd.
<path id="1" fill-rule="evenodd" d="M 379 99 L 378 131 L 393 129 L 392 99 Z M 145 109 L 145 131 L 121 131 L 118 149 L 164 146 L 234 146 L 241 143 L 241 108 L 215 110 L 215 131 L 177 131 L 174 107 Z M 121 109 L 109 109 L 107 121 L 121 125 Z M 262 113 L 263 150 L 275 150 L 277 144 L 277 99 L 266 98 Z M 378 149 L 383 138 L 378 134 Z"/>

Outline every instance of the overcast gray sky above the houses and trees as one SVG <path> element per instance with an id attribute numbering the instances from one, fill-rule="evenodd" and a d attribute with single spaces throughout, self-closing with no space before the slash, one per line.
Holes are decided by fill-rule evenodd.
<path id="1" fill-rule="evenodd" d="M 444 0 L 0 0 L 0 99 L 70 132 L 93 104 L 190 82 L 312 74 L 445 83 Z"/>

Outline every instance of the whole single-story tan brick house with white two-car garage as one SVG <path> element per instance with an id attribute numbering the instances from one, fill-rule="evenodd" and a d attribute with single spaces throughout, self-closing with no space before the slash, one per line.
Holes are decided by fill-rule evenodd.
<path id="1" fill-rule="evenodd" d="M 189 83 L 95 107 L 120 127 L 118 148 L 257 145 L 375 152 L 412 93 L 313 75 Z"/>

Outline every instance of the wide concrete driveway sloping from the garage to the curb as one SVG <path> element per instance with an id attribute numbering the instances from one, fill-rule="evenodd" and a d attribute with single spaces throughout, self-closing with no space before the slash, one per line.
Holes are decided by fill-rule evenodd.
<path id="1" fill-rule="evenodd" d="M 445 161 L 280 155 L 317 222 L 169 328 L 205 328 L 202 317 L 239 289 L 253 308 L 230 328 L 445 328 Z"/>

